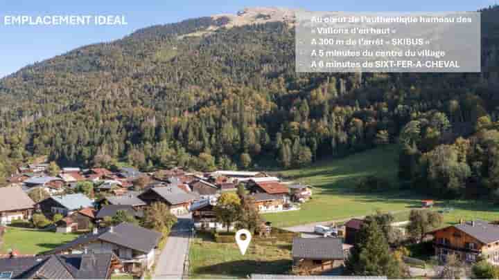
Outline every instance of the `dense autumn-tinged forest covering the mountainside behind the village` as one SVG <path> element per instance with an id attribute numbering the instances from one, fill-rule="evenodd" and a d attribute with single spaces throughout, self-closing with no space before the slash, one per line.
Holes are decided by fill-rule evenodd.
<path id="1" fill-rule="evenodd" d="M 0 177 L 39 156 L 289 168 L 396 142 L 414 187 L 499 188 L 498 7 L 482 10 L 478 74 L 295 73 L 292 25 L 227 21 L 144 28 L 1 79 Z"/>

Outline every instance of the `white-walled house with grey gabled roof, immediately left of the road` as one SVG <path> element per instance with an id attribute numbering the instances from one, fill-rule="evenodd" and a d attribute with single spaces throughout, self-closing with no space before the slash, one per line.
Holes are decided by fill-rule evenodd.
<path id="1" fill-rule="evenodd" d="M 125 271 L 137 272 L 151 268 L 161 233 L 131 223 L 106 227 L 60 245 L 46 254 L 88 254 L 114 252 Z"/>

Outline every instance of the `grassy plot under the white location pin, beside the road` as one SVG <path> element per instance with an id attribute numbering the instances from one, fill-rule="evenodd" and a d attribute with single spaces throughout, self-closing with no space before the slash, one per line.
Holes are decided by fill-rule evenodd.
<path id="1" fill-rule="evenodd" d="M 200 234 L 191 241 L 189 263 L 191 278 L 245 278 L 255 272 L 286 274 L 291 271 L 291 245 L 252 242 L 243 256 L 236 243 L 215 243 L 211 236 Z"/>

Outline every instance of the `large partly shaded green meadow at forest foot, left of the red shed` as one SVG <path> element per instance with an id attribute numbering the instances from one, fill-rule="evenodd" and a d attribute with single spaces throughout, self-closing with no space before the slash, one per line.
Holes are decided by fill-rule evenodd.
<path id="1" fill-rule="evenodd" d="M 324 160 L 304 169 L 283 171 L 292 180 L 313 186 L 313 199 L 299 211 L 265 214 L 274 226 L 289 227 L 304 223 L 331 221 L 372 214 L 377 209 L 390 212 L 419 207 L 421 196 L 410 192 L 359 194 L 353 190 L 357 180 L 369 175 L 397 184 L 397 148 L 388 146 L 356 153 L 347 158 Z"/>

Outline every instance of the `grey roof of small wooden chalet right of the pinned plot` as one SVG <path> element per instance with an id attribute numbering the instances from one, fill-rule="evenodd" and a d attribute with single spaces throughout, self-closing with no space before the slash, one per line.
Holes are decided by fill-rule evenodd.
<path id="1" fill-rule="evenodd" d="M 295 237 L 292 243 L 292 256 L 299 259 L 343 259 L 341 239 L 320 238 L 307 239 Z"/>

